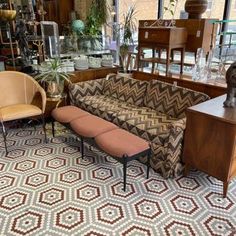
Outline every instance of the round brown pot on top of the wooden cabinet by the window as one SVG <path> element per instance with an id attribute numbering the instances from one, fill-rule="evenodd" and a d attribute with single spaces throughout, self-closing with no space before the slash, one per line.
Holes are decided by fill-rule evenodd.
<path id="1" fill-rule="evenodd" d="M 184 8 L 189 19 L 201 19 L 202 13 L 207 9 L 207 0 L 186 0 Z"/>

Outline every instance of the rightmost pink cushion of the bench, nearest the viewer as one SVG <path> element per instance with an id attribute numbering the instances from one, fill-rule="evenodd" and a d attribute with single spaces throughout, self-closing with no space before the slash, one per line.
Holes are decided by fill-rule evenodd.
<path id="1" fill-rule="evenodd" d="M 95 137 L 97 145 L 106 153 L 122 158 L 149 149 L 148 142 L 123 129 L 115 129 Z"/>

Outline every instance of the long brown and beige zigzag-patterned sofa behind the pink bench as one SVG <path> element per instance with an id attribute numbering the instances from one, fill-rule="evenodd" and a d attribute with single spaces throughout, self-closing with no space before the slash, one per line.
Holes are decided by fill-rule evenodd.
<path id="1" fill-rule="evenodd" d="M 178 176 L 183 169 L 186 108 L 209 99 L 203 93 L 157 80 L 117 74 L 71 84 L 69 95 L 71 104 L 150 141 L 151 167 L 165 178 Z"/>

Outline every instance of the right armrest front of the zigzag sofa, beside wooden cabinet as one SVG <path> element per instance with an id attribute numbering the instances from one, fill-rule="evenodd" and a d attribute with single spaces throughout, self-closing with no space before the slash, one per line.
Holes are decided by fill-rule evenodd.
<path id="1" fill-rule="evenodd" d="M 164 177 L 176 177 L 183 170 L 181 155 L 185 127 L 186 118 L 176 120 L 170 124 L 170 134 L 165 145 L 167 151 L 165 158 L 166 176 Z"/>

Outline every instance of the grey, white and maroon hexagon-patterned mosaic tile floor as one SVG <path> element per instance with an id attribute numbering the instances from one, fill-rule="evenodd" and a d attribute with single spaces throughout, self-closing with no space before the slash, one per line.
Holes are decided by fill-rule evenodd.
<path id="1" fill-rule="evenodd" d="M 10 129 L 7 156 L 0 135 L 0 236 L 236 235 L 236 179 L 223 198 L 203 172 L 146 179 L 134 160 L 124 191 L 118 161 L 87 143 L 82 159 L 74 135 L 49 131 Z"/>

